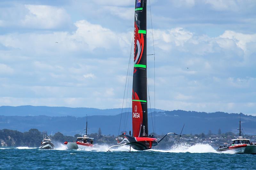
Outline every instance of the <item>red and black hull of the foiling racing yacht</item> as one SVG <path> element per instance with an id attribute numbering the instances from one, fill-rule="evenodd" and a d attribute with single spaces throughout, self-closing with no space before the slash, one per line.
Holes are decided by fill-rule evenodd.
<path id="1" fill-rule="evenodd" d="M 130 135 L 120 135 L 117 138 L 117 144 L 125 144 L 136 150 L 148 150 L 158 144 L 157 139 L 153 137 L 132 137 Z"/>

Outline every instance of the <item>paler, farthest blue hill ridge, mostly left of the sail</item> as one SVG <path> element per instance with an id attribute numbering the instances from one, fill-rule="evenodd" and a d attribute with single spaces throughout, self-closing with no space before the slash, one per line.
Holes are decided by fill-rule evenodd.
<path id="1" fill-rule="evenodd" d="M 129 108 L 123 108 L 123 112 L 128 112 Z M 131 110 L 131 108 L 130 108 Z M 152 109 L 153 111 L 153 109 Z M 156 109 L 156 112 L 164 110 Z M 91 115 L 117 115 L 122 112 L 122 108 L 96 109 L 87 107 L 49 107 L 49 106 L 1 106 L 0 115 L 4 116 L 75 116 L 82 117 Z M 148 109 L 150 112 L 150 109 Z"/>

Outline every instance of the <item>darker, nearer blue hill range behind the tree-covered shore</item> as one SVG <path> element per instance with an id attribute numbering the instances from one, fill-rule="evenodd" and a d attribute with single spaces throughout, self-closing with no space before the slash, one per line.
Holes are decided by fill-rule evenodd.
<path id="1" fill-rule="evenodd" d="M 127 115 L 128 114 L 128 115 Z M 153 121 L 154 121 L 154 113 Z M 118 115 L 93 115 L 88 116 L 88 133 L 96 133 L 100 128 L 104 135 L 117 135 L 121 114 Z M 124 121 L 125 118 L 125 121 Z M 126 123 L 126 120 L 128 121 Z M 132 114 L 122 115 L 120 132 L 132 130 Z M 184 134 L 207 134 L 209 130 L 217 134 L 218 129 L 222 133 L 238 133 L 239 114 L 228 114 L 223 112 L 205 113 L 194 111 L 173 110 L 156 113 L 156 133 L 168 132 L 180 133 L 185 123 Z M 152 130 L 151 113 L 148 114 L 149 132 Z M 241 126 L 247 135 L 256 134 L 256 116 L 241 114 Z M 126 129 L 125 129 L 126 127 Z M 36 128 L 39 131 L 46 130 L 48 133 L 61 132 L 64 135 L 82 134 L 85 128 L 85 117 L 75 116 L 0 116 L 0 129 L 12 129 L 21 132 Z M 119 133 L 120 133 L 119 132 Z"/>

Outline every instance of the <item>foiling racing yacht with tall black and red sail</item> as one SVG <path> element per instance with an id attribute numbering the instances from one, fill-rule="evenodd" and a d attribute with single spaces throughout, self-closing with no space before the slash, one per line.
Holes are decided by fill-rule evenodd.
<path id="1" fill-rule="evenodd" d="M 110 148 L 121 145 L 129 145 L 136 150 L 147 150 L 150 149 L 152 146 L 156 146 L 159 142 L 161 142 L 161 140 L 158 140 L 154 135 L 148 136 L 147 0 L 136 0 L 134 15 L 132 134 L 128 135 L 123 133 L 122 135 L 119 135 L 117 137 L 117 145 L 111 146 Z M 108 149 L 108 151 L 110 150 L 110 148 Z"/>

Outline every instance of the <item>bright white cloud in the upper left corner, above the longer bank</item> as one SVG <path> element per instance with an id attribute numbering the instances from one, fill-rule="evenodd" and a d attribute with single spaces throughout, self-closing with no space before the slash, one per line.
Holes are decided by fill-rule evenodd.
<path id="1" fill-rule="evenodd" d="M 1 26 L 3 27 L 18 26 L 30 29 L 56 29 L 70 22 L 70 16 L 65 9 L 49 5 L 24 4 L 3 8 L 2 10 L 12 17 L 10 19 L 10 16 L 4 15 L 3 19 L 1 19 Z"/>

